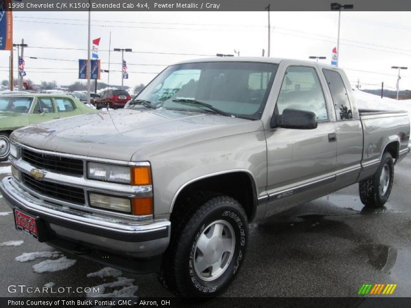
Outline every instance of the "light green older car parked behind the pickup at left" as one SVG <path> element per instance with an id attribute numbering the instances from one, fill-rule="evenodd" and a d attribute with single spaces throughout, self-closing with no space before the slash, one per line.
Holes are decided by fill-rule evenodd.
<path id="1" fill-rule="evenodd" d="M 64 94 L 0 95 L 0 162 L 10 153 L 10 133 L 20 127 L 98 112 Z"/>

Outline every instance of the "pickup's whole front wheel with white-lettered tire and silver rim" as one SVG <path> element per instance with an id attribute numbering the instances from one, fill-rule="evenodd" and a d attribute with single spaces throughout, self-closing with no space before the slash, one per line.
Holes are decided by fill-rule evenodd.
<path id="1" fill-rule="evenodd" d="M 231 197 L 210 194 L 197 202 L 175 225 L 159 278 L 179 296 L 213 297 L 226 290 L 244 261 L 247 216 Z"/>

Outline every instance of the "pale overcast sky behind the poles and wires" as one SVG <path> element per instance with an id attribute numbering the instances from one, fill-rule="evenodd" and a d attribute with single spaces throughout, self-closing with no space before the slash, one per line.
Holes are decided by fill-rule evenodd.
<path id="1" fill-rule="evenodd" d="M 86 59 L 86 51 L 33 47 L 86 49 L 87 16 L 88 12 L 14 13 L 14 43 L 24 38 L 29 45 L 24 53 L 27 78 L 36 83 L 55 80 L 59 85 L 78 80 L 76 61 Z M 260 56 L 264 48 L 267 55 L 267 12 L 92 12 L 91 20 L 91 39 L 101 37 L 102 69 L 108 69 L 108 52 L 103 50 L 109 49 L 110 32 L 111 50 L 215 55 L 236 49 L 240 56 Z M 330 63 L 337 46 L 338 12 L 271 12 L 271 27 L 271 56 L 308 60 L 309 55 L 320 55 L 327 56 L 321 61 Z M 395 89 L 397 71 L 391 66 L 408 66 L 400 88 L 411 89 L 410 34 L 411 12 L 343 11 L 340 67 L 352 83 L 359 79 L 366 87 L 384 81 L 385 88 Z M 146 84 L 165 65 L 200 57 L 125 53 L 129 79 L 124 85 Z M 0 80 L 8 79 L 8 63 L 9 52 L 0 52 Z M 111 52 L 110 63 L 110 70 L 116 70 L 110 73 L 110 84 L 119 85 L 121 53 Z M 107 73 L 102 73 L 102 81 L 107 82 Z"/>

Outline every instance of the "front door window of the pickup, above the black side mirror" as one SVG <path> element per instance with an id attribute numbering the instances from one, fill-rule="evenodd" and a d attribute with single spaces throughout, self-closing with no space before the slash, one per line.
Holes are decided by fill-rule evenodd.
<path id="1" fill-rule="evenodd" d="M 317 73 L 313 67 L 287 68 L 277 100 L 278 113 L 284 109 L 312 111 L 319 121 L 328 120 L 327 105 Z"/>

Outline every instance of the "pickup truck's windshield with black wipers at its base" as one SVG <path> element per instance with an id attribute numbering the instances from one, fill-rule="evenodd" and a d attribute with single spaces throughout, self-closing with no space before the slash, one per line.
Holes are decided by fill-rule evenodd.
<path id="1" fill-rule="evenodd" d="M 183 102 L 196 100 L 229 115 L 260 119 L 277 67 L 257 62 L 178 64 L 161 72 L 136 100 L 165 109 L 213 112 Z"/>

